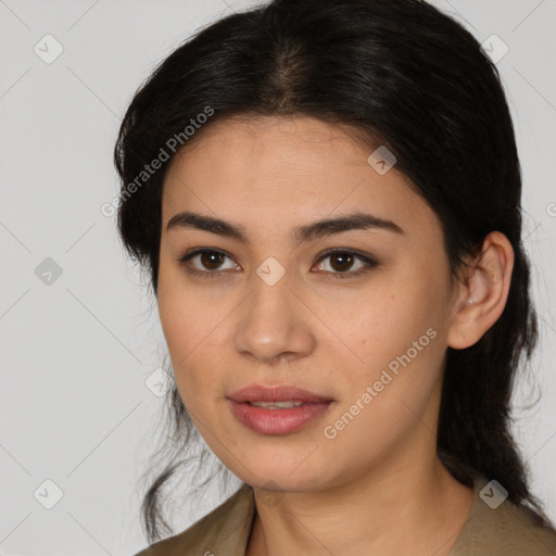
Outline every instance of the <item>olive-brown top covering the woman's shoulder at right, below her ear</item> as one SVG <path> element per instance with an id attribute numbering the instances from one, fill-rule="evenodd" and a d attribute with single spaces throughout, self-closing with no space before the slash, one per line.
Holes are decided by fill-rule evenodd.
<path id="1" fill-rule="evenodd" d="M 526 506 L 492 501 L 491 482 L 475 481 L 471 513 L 450 556 L 554 556 L 556 531 Z"/>

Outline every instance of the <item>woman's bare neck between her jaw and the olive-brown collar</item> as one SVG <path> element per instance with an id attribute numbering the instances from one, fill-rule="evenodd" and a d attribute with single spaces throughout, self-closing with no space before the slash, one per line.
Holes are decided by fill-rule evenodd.
<path id="1" fill-rule="evenodd" d="M 413 460 L 395 456 L 327 490 L 288 492 L 275 505 L 255 489 L 247 556 L 333 555 L 346 546 L 377 556 L 448 555 L 469 516 L 472 489 L 456 481 L 435 452 Z"/>

